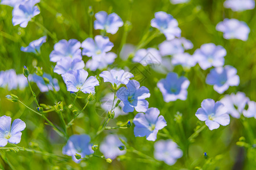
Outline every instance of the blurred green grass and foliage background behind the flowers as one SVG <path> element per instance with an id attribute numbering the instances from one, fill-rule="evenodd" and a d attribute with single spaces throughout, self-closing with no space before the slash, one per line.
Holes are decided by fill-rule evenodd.
<path id="1" fill-rule="evenodd" d="M 212 86 L 205 84 L 205 77 L 210 69 L 204 71 L 200 69 L 199 65 L 196 65 L 190 71 L 184 73 L 182 68 L 177 66 L 174 71 L 179 75 L 187 76 L 191 82 L 188 88 L 188 98 L 185 101 L 177 100 L 165 103 L 161 92 L 156 87 L 156 83 L 161 78 L 165 78 L 166 75 L 156 73 L 152 69 L 150 71 L 145 70 L 142 66 L 131 63 L 130 59 L 123 62 L 120 58 L 117 58 L 109 68 L 127 66 L 132 69 L 136 66 L 146 77 L 141 82 L 141 86 L 146 86 L 150 90 L 151 97 L 147 99 L 150 103 L 149 107 L 159 108 L 160 114 L 167 121 L 165 129 L 168 130 L 171 138 L 183 150 L 183 157 L 178 159 L 175 165 L 170 167 L 163 162 L 159 164 L 142 162 L 139 159 L 141 156 L 130 152 L 127 152 L 125 156 L 121 156 L 119 159 L 115 159 L 112 164 L 98 158 L 92 158 L 86 162 L 76 164 L 71 159 L 54 159 L 26 151 L 6 152 L 0 150 L 0 169 L 195 169 L 196 167 L 203 167 L 203 169 L 255 169 L 256 149 L 251 147 L 256 142 L 255 118 L 238 120 L 231 117 L 230 125 L 221 126 L 213 131 L 208 128 L 204 129 L 192 143 L 188 142 L 188 138 L 193 134 L 195 128 L 204 124 L 195 116 L 196 110 L 200 108 L 201 101 L 204 99 L 210 98 L 217 101 L 225 94 L 241 91 L 245 92 L 250 100 L 256 100 L 256 10 L 233 12 L 230 9 L 225 9 L 223 2 L 191 0 L 189 3 L 172 5 L 168 0 L 41 0 L 38 3 L 41 12 L 34 19 L 42 23 L 53 35 L 56 35 L 57 40 L 77 39 L 82 42 L 89 37 L 90 29 L 92 29 L 92 24 L 95 20 L 94 16 L 90 20 L 88 15 L 89 6 L 92 6 L 94 14 L 98 11 L 115 12 L 122 18 L 123 22 L 131 22 L 131 30 L 127 33 L 127 39 L 124 27 L 119 28 L 115 35 L 108 35 L 110 41 L 114 43 L 112 52 L 117 54 L 122 48 L 122 41 L 126 40 L 127 43 L 138 45 L 146 32 L 150 31 L 149 33 L 151 34 L 154 29 L 150 28 L 150 20 L 154 18 L 154 13 L 166 11 L 179 22 L 181 36 L 191 40 L 194 44 L 194 48 L 189 50 L 189 53 L 192 54 L 202 44 L 209 42 L 224 46 L 227 50 L 225 65 L 236 67 L 240 76 L 240 86 L 230 87 L 229 90 L 220 95 L 213 90 Z M 27 46 L 29 42 L 47 35 L 47 32 L 33 22 L 28 23 L 27 28 L 14 27 L 11 23 L 12 10 L 13 8 L 9 6 L 0 5 L 0 70 L 15 69 L 17 74 L 21 74 L 23 65 L 26 65 L 31 73 L 35 72 L 35 66 L 43 67 L 45 73 L 51 74 L 59 80 L 60 91 L 41 93 L 36 84 L 32 83 L 32 88 L 37 95 L 39 103 L 55 105 L 56 102 L 63 101 L 65 106 L 64 117 L 73 116 L 67 108 L 72 103 L 73 97 L 67 91 L 61 76 L 53 74 L 55 63 L 49 62 L 49 54 L 53 50 L 55 41 L 48 36 L 47 42 L 41 48 L 42 54 L 40 56 L 21 52 L 21 46 Z M 222 33 L 215 29 L 216 24 L 224 18 L 236 18 L 246 22 L 251 29 L 249 39 L 246 42 L 225 40 L 222 37 Z M 99 34 L 100 31 L 93 30 L 93 37 Z M 156 37 L 145 48 L 157 48 L 160 42 L 164 40 L 165 37 L 163 35 Z M 84 56 L 83 59 L 87 61 L 88 57 Z M 101 73 L 100 70 L 89 71 L 89 75 L 98 75 L 99 73 Z M 137 78 L 135 77 L 135 79 Z M 96 134 L 105 116 L 96 111 L 97 107 L 99 107 L 98 100 L 105 94 L 112 92 L 109 83 L 103 83 L 102 79 L 100 79 L 100 84 L 100 87 L 96 88 L 96 100 L 90 102 L 84 114 L 77 118 L 75 125 L 72 127 L 73 130 L 69 129 L 69 135 L 85 133 L 93 138 Z M 18 146 L 62 155 L 62 147 L 67 141 L 59 137 L 51 127 L 44 125 L 44 120 L 41 117 L 19 103 L 11 103 L 6 100 L 5 96 L 10 93 L 19 96 L 19 99 L 31 108 L 36 108 L 36 104 L 28 87 L 24 91 L 13 90 L 11 92 L 0 88 L 0 116 L 11 116 L 13 120 L 20 118 L 27 124 L 27 128 L 22 132 L 22 141 Z M 82 95 L 82 99 L 77 99 L 75 105 L 77 109 L 84 107 L 87 96 Z M 175 121 L 177 112 L 182 113 L 181 122 Z M 109 125 L 115 126 L 118 121 L 126 122 L 129 118 L 133 119 L 134 114 L 135 112 L 111 120 Z M 61 126 L 61 122 L 55 112 L 49 112 L 47 117 L 54 124 Z M 164 133 L 163 130 L 159 132 Z M 130 146 L 148 156 L 154 157 L 154 142 L 147 141 L 144 137 L 135 138 L 133 128 L 105 130 L 104 133 L 92 139 L 91 142 L 99 144 L 109 133 L 123 135 Z M 240 137 L 245 137 L 245 142 L 249 143 L 250 147 L 237 146 L 236 142 Z M 158 135 L 158 139 L 168 138 Z M 204 152 L 209 155 L 208 159 L 204 158 Z M 100 151 L 97 154 L 100 155 Z"/>

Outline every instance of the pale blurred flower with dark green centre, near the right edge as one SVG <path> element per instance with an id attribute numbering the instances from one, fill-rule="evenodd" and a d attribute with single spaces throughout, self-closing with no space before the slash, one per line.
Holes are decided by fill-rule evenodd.
<path id="1" fill-rule="evenodd" d="M 240 118 L 240 115 L 245 109 L 245 105 L 249 101 L 249 98 L 245 96 L 243 92 L 237 92 L 237 94 L 225 95 L 220 102 L 224 104 L 228 113 L 236 118 Z"/>

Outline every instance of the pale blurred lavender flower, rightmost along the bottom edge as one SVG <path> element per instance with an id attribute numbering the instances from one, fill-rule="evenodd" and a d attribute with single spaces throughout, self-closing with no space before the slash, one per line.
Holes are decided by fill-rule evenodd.
<path id="1" fill-rule="evenodd" d="M 177 159 L 181 158 L 183 155 L 183 152 L 177 144 L 170 139 L 155 142 L 154 148 L 155 159 L 163 160 L 168 165 L 175 164 Z"/>

